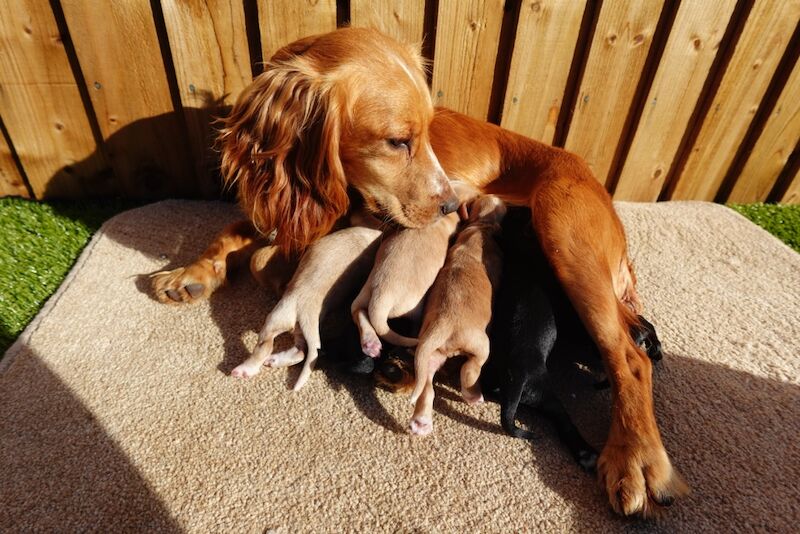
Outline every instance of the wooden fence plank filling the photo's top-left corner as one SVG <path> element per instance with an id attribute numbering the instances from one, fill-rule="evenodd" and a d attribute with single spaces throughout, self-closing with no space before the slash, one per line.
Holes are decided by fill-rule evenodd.
<path id="1" fill-rule="evenodd" d="M 33 193 L 39 198 L 89 193 L 86 180 L 105 162 L 95 154 L 50 5 L 0 3 L 0 32 L 0 114 Z"/>

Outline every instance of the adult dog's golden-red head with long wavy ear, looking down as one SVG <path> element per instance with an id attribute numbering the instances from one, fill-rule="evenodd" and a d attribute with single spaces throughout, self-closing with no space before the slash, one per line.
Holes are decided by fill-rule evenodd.
<path id="1" fill-rule="evenodd" d="M 419 51 L 341 29 L 278 51 L 220 135 L 222 174 L 275 243 L 298 250 L 347 211 L 348 186 L 376 215 L 421 227 L 458 207 L 431 148 Z"/>

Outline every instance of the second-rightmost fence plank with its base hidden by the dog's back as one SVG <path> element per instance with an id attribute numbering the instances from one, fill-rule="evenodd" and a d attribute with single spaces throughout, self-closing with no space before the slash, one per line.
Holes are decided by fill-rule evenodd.
<path id="1" fill-rule="evenodd" d="M 552 143 L 586 0 L 525 0 L 501 126 Z"/>

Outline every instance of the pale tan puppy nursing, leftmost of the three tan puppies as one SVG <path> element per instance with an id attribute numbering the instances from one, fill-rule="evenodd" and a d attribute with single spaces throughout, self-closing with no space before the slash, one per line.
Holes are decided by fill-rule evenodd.
<path id="1" fill-rule="evenodd" d="M 285 367 L 305 357 L 294 390 L 305 385 L 321 348 L 321 319 L 346 305 L 367 278 L 378 250 L 381 231 L 377 219 L 355 214 L 350 223 L 353 226 L 329 234 L 306 249 L 286 292 L 267 316 L 253 355 L 237 366 L 232 376 L 250 378 L 263 365 Z M 295 346 L 273 354 L 275 338 L 290 331 L 295 332 Z"/>

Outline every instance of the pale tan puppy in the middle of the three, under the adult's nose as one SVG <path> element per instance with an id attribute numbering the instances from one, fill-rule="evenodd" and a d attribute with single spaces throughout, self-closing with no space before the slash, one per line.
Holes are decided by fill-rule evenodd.
<path id="1" fill-rule="evenodd" d="M 451 184 L 459 199 L 474 197 L 474 188 Z M 377 358 L 381 340 L 401 347 L 414 347 L 416 338 L 402 336 L 389 327 L 389 319 L 408 317 L 419 325 L 425 295 L 444 265 L 450 238 L 456 231 L 455 213 L 422 228 L 400 228 L 385 236 L 375 265 L 350 309 L 361 332 L 364 354 Z"/>

